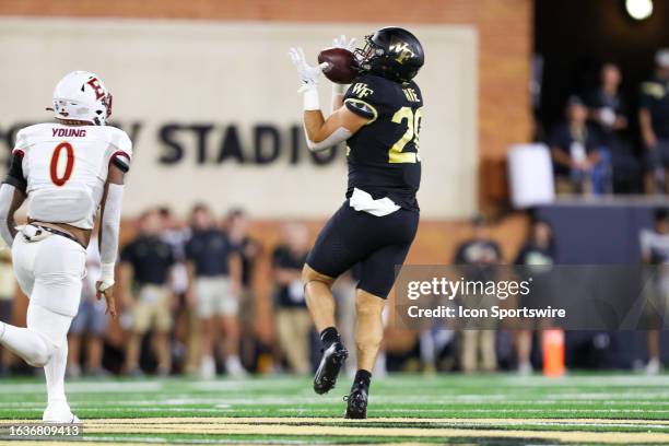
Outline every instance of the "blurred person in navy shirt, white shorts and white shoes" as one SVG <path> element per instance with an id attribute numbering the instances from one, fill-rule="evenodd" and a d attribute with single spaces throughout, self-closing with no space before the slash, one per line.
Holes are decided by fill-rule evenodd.
<path id="1" fill-rule="evenodd" d="M 223 333 L 225 371 L 231 376 L 244 376 L 239 361 L 239 287 L 242 265 L 239 254 L 227 234 L 215 226 L 209 208 L 197 204 L 190 215 L 192 236 L 186 244 L 186 260 L 190 286 L 188 300 L 195 303 L 201 330 L 202 378 L 216 374 L 214 334 Z"/>

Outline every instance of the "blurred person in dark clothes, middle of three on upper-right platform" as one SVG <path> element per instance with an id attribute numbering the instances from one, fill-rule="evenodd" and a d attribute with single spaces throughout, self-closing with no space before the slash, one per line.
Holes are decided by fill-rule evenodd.
<path id="1" fill-rule="evenodd" d="M 601 67 L 600 85 L 586 99 L 588 116 L 598 130 L 599 141 L 611 156 L 613 191 L 633 193 L 638 191 L 642 172 L 624 136 L 627 109 L 620 93 L 621 82 L 618 66 L 606 63 Z"/>

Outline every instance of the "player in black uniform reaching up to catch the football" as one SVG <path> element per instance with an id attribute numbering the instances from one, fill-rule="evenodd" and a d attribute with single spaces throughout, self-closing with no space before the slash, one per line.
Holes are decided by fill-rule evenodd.
<path id="1" fill-rule="evenodd" d="M 345 39 L 336 46 L 352 49 Z M 413 78 L 423 66 L 423 47 L 413 34 L 385 27 L 355 50 L 359 77 L 343 92 L 334 85 L 334 111 L 324 118 L 316 84 L 325 64 L 309 67 L 301 49 L 291 57 L 303 82 L 304 128 L 310 150 L 347 141 L 347 200 L 320 232 L 303 270 L 306 301 L 320 331 L 322 359 L 314 389 L 334 387 L 348 356 L 334 321 L 334 280 L 360 263 L 355 308 L 357 373 L 348 397 L 347 418 L 366 418 L 372 369 L 383 340 L 382 312 L 413 242 L 421 179 L 419 133 L 423 97 Z"/>

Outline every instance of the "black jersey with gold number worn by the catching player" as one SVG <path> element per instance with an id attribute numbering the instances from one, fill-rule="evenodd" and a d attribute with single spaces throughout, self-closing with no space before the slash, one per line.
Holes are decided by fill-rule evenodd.
<path id="1" fill-rule="evenodd" d="M 388 197 L 404 209 L 418 211 L 415 193 L 421 183 L 419 132 L 423 96 L 411 81 L 400 84 L 374 74 L 353 81 L 344 96 L 351 111 L 369 118 L 348 141 L 349 187 L 375 199 Z"/>

